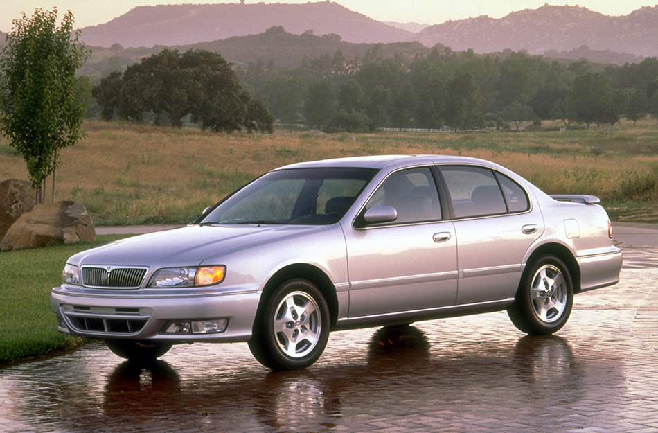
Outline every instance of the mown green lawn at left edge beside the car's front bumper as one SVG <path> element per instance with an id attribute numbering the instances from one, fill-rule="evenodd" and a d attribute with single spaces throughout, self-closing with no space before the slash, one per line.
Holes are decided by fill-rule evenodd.
<path id="1" fill-rule="evenodd" d="M 57 331 L 48 297 L 62 281 L 62 268 L 73 254 L 125 235 L 98 236 L 41 249 L 0 253 L 0 364 L 48 355 L 82 343 Z"/>

